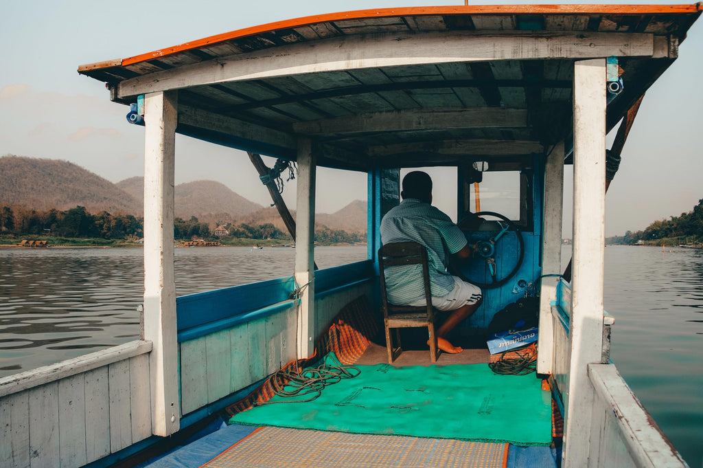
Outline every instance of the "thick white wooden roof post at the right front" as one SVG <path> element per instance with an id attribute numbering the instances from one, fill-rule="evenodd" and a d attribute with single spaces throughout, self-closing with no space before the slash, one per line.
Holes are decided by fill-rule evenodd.
<path id="1" fill-rule="evenodd" d="M 605 242 L 605 58 L 574 64 L 574 255 L 571 358 L 564 466 L 588 467 L 594 389 L 588 364 L 600 362 Z"/>

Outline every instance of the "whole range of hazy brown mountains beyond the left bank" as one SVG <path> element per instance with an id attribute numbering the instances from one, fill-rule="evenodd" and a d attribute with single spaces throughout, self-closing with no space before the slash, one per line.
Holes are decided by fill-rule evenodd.
<path id="1" fill-rule="evenodd" d="M 143 215 L 144 178 L 117 184 L 63 160 L 4 156 L 0 158 L 0 206 L 22 205 L 34 210 L 67 210 L 77 205 L 89 213 Z M 224 184 L 198 180 L 176 185 L 176 217 L 192 216 L 215 223 L 271 223 L 288 232 L 276 208 L 264 208 Z M 291 213 L 295 218 L 295 211 Z M 336 213 L 316 214 L 316 225 L 347 232 L 366 232 L 366 202 L 353 201 Z"/>

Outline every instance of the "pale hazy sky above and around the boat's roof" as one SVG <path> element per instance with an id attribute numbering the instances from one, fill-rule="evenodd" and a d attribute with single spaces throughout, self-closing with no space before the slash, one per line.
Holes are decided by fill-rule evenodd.
<path id="1" fill-rule="evenodd" d="M 506 3 L 512 2 L 480 4 Z M 124 118 L 127 107 L 110 102 L 103 83 L 78 75 L 78 65 L 306 15 L 447 4 L 463 1 L 4 0 L 0 156 L 68 160 L 110 182 L 141 176 L 143 127 L 129 125 Z M 696 24 L 681 44 L 678 60 L 647 92 L 640 107 L 622 153 L 621 170 L 607 194 L 606 235 L 636 231 L 654 220 L 680 215 L 703 198 L 702 76 L 703 24 Z M 610 141 L 612 135 L 609 145 Z M 565 172 L 569 193 L 570 166 Z M 436 189 L 434 204 L 453 215 L 456 181 L 437 183 L 452 178 L 446 170 L 432 176 L 435 187 L 444 189 Z M 245 153 L 178 136 L 176 184 L 202 179 L 217 180 L 262 205 L 271 203 Z M 333 213 L 354 199 L 366 198 L 366 175 L 321 169 L 317 191 L 318 213 Z M 294 208 L 295 182 L 286 184 L 283 196 Z M 565 236 L 571 234 L 571 203 L 566 196 Z"/>

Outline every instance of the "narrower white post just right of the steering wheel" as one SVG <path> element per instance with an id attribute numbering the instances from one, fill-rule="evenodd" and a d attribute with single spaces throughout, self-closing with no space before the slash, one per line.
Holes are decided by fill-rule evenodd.
<path id="1" fill-rule="evenodd" d="M 562 205 L 564 196 L 564 142 L 557 143 L 544 167 L 542 274 L 559 274 L 562 262 Z M 537 373 L 551 374 L 554 362 L 552 301 L 557 299 L 558 277 L 543 277 L 539 300 Z"/>

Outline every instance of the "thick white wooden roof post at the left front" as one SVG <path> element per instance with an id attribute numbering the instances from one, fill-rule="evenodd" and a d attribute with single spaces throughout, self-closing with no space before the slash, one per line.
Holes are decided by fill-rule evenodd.
<path id="1" fill-rule="evenodd" d="M 152 431 L 179 430 L 176 284 L 174 283 L 174 158 L 178 94 L 146 95 L 144 148 L 144 339 L 149 358 Z"/>

